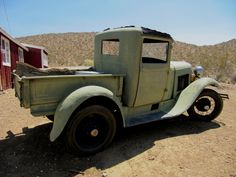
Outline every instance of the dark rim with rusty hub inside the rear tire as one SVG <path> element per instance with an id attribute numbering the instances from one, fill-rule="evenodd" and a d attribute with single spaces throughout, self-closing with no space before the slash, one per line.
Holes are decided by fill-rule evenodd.
<path id="1" fill-rule="evenodd" d="M 108 134 L 107 120 L 100 114 L 89 114 L 80 121 L 76 128 L 77 146 L 86 150 L 98 149 L 104 144 Z"/>

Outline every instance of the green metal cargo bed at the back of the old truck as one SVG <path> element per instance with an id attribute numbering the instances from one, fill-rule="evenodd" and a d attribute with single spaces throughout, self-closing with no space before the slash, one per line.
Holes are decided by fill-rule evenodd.
<path id="1" fill-rule="evenodd" d="M 20 105 L 30 108 L 34 116 L 53 115 L 59 102 L 84 86 L 101 86 L 121 97 L 123 78 L 122 74 L 105 74 L 88 70 L 73 70 L 69 75 L 20 76 L 17 71 L 13 73 L 15 95 L 19 98 Z"/>

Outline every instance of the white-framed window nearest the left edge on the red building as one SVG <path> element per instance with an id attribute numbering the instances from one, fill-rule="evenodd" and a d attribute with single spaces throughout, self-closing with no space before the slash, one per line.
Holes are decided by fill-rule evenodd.
<path id="1" fill-rule="evenodd" d="M 4 47 L 3 48 L 3 42 L 4 42 Z M 11 66 L 11 50 L 10 50 L 10 41 L 1 36 L 1 52 L 2 52 L 2 56 L 3 56 L 3 59 L 2 59 L 2 64 L 4 66 Z"/>

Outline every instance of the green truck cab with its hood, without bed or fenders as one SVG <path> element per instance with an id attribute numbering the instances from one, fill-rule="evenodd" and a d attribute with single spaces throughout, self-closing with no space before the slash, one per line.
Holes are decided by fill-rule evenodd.
<path id="1" fill-rule="evenodd" d="M 190 83 L 191 65 L 170 61 L 172 43 L 169 34 L 148 28 L 108 29 L 96 35 L 94 67 L 125 74 L 123 105 L 156 104 L 175 97 Z"/>

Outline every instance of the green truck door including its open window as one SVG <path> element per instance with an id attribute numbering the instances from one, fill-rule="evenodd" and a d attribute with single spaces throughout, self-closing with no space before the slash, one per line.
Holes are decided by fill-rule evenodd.
<path id="1" fill-rule="evenodd" d="M 167 41 L 144 38 L 135 106 L 163 100 L 169 71 L 168 48 Z"/>

